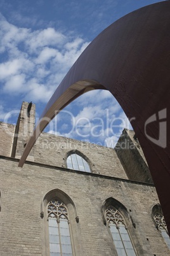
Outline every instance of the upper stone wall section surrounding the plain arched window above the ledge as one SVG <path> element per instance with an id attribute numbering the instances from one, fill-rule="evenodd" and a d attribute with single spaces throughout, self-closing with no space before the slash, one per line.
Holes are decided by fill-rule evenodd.
<path id="1" fill-rule="evenodd" d="M 34 146 L 34 160 L 51 166 L 67 167 L 67 155 L 74 150 L 86 158 L 92 173 L 128 178 L 113 148 L 53 134 L 41 134 Z"/>

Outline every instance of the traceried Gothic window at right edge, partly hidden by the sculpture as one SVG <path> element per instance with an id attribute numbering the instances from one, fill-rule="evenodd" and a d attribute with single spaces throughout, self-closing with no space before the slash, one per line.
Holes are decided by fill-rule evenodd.
<path id="1" fill-rule="evenodd" d="M 153 208 L 153 217 L 154 217 L 156 227 L 162 234 L 162 237 L 164 238 L 167 246 L 170 249 L 170 238 L 168 235 L 166 222 L 164 220 L 164 215 L 162 215 L 162 213 L 161 213 L 162 210 L 159 210 L 160 206 L 155 206 L 155 207 L 157 208 L 157 211 L 154 212 L 154 208 Z"/>

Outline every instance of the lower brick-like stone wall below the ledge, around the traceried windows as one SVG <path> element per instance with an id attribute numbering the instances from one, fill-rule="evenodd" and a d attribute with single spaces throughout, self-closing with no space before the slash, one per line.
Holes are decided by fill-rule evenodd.
<path id="1" fill-rule="evenodd" d="M 1 256 L 48 255 L 46 208 L 43 218 L 40 213 L 51 190 L 56 196 L 63 191 L 75 205 L 78 223 L 70 213 L 75 255 L 114 255 L 112 237 L 101 217 L 102 203 L 109 197 L 127 208 L 128 230 L 138 255 L 169 255 L 150 216 L 152 206 L 159 203 L 154 185 L 29 162 L 21 169 L 18 160 L 4 157 L 0 164 Z"/>

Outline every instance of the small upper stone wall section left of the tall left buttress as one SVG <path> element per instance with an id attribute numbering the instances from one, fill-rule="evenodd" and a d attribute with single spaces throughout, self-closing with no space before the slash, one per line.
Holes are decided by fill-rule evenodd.
<path id="1" fill-rule="evenodd" d="M 0 155 L 11 156 L 15 125 L 0 122 Z"/>

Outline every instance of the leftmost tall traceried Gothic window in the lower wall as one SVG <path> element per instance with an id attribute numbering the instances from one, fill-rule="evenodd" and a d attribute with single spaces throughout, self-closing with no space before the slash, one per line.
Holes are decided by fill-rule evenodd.
<path id="1" fill-rule="evenodd" d="M 48 203 L 49 255 L 72 256 L 69 218 L 65 204 L 55 199 Z"/>

